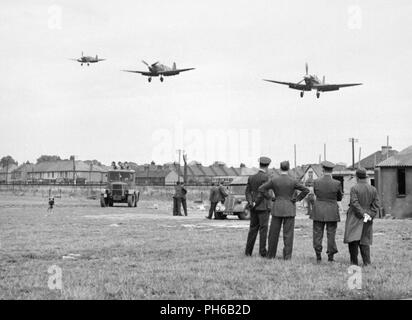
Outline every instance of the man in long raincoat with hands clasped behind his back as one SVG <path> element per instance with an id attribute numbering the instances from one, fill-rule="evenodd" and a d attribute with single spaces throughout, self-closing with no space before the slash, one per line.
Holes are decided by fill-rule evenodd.
<path id="1" fill-rule="evenodd" d="M 368 184 L 366 170 L 356 170 L 357 184 L 350 190 L 350 204 L 345 223 L 344 243 L 348 244 L 350 262 L 358 265 L 360 248 L 363 265 L 371 263 L 373 218 L 379 211 L 379 198 L 376 188 Z"/>

